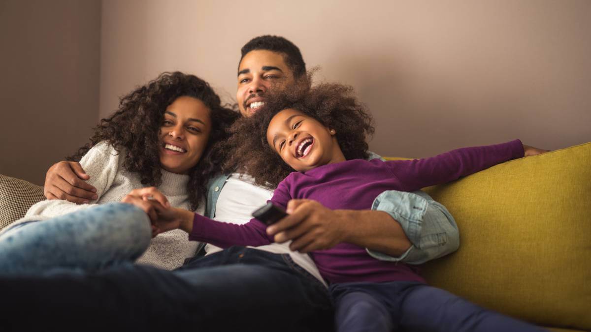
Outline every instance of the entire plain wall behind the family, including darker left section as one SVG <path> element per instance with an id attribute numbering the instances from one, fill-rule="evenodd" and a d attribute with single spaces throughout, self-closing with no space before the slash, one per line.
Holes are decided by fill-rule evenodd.
<path id="1" fill-rule="evenodd" d="M 370 148 L 382 155 L 427 157 L 513 138 L 548 149 L 591 141 L 587 0 L 39 1 L 34 3 L 43 8 L 35 12 L 44 15 L 29 19 L 33 27 L 23 26 L 18 16 L 30 12 L 7 13 L 15 3 L 22 2 L 0 0 L 2 46 L 18 46 L 8 57 L 2 52 L 0 63 L 11 67 L 12 76 L 0 81 L 0 96 L 12 100 L 15 93 L 7 87 L 13 91 L 12 80 L 22 73 L 46 70 L 51 77 L 59 71 L 57 79 L 43 82 L 54 84 L 52 89 L 66 87 L 59 97 L 43 89 L 17 94 L 30 96 L 18 112 L 14 105 L 22 100 L 12 100 L 8 108 L 3 103 L 0 171 L 27 180 L 34 177 L 20 175 L 23 165 L 44 176 L 51 162 L 85 142 L 76 132 L 87 138 L 90 126 L 113 112 L 119 97 L 162 71 L 194 73 L 232 102 L 239 50 L 262 34 L 298 45 L 309 68 L 321 67 L 317 79 L 355 87 L 375 118 Z M 78 25 L 64 27 L 64 21 Z M 90 64 L 98 56 L 92 51 L 99 52 L 92 27 L 100 32 L 100 74 Z M 80 38 L 47 43 L 63 34 Z M 37 45 L 31 47 L 30 40 Z M 46 43 L 57 44 L 45 49 Z M 61 48 L 83 50 L 86 60 Z M 78 78 L 57 70 L 60 64 Z M 87 82 L 80 79 L 83 73 Z M 94 86 L 100 86 L 99 103 L 91 102 Z M 22 112 L 28 112 L 27 135 L 14 125 L 22 122 Z M 12 114 L 10 125 L 4 113 Z M 92 114 L 90 125 L 86 118 L 72 119 Z M 56 123 L 61 141 L 39 132 L 53 125 L 49 120 L 56 115 L 68 115 L 69 122 Z M 27 149 L 7 144 L 16 139 Z M 41 157 L 32 156 L 36 153 L 45 159 L 34 160 Z"/>

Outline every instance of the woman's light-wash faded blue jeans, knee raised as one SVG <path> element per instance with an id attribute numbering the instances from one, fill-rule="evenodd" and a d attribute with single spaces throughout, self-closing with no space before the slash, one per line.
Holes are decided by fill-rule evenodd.
<path id="1" fill-rule="evenodd" d="M 0 275 L 99 271 L 135 261 L 150 239 L 144 211 L 131 204 L 103 204 L 9 229 L 0 237 Z"/>

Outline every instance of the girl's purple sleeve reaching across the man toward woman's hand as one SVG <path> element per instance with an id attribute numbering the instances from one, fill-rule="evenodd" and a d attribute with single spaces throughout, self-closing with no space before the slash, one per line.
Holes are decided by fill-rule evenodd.
<path id="1" fill-rule="evenodd" d="M 271 198 L 273 203 L 283 208 L 289 201 L 289 199 L 285 200 L 289 191 L 284 182 L 281 181 Z M 211 243 L 220 248 L 264 246 L 274 242 L 273 237 L 267 235 L 267 226 L 254 218 L 246 224 L 239 225 L 217 222 L 200 214 L 195 214 L 193 217 L 193 230 L 189 234 L 189 240 Z"/>

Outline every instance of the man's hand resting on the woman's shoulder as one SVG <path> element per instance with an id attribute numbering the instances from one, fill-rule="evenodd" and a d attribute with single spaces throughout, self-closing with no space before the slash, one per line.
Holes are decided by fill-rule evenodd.
<path id="1" fill-rule="evenodd" d="M 75 161 L 60 161 L 53 164 L 45 175 L 43 194 L 48 200 L 68 200 L 86 204 L 98 199 L 96 188 L 85 181 L 90 176 Z"/>

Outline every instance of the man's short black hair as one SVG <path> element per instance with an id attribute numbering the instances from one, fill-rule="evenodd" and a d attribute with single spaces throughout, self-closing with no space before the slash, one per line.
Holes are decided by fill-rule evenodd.
<path id="1" fill-rule="evenodd" d="M 287 39 L 275 35 L 262 35 L 252 38 L 248 43 L 242 47 L 242 58 L 250 51 L 267 50 L 277 53 L 282 53 L 285 64 L 293 71 L 294 77 L 300 77 L 306 74 L 306 63 L 301 57 L 300 49 L 294 43 Z M 240 63 L 239 61 L 239 63 Z"/>

